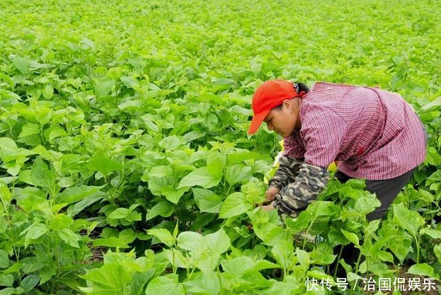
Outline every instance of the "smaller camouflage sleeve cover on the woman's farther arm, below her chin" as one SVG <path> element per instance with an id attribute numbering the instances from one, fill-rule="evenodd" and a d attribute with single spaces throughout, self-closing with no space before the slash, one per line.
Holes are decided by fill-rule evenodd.
<path id="1" fill-rule="evenodd" d="M 275 171 L 273 178 L 268 181 L 270 187 L 278 187 L 282 190 L 289 183 L 294 183 L 297 175 L 299 175 L 300 166 L 302 166 L 303 158 L 290 158 L 281 156 L 279 159 L 279 168 Z"/>

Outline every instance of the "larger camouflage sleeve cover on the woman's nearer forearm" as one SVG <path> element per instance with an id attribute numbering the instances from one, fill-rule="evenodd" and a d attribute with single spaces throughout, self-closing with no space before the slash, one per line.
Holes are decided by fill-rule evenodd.
<path id="1" fill-rule="evenodd" d="M 328 169 L 303 163 L 294 183 L 283 187 L 272 204 L 279 212 L 295 217 L 317 199 L 328 180 Z"/>

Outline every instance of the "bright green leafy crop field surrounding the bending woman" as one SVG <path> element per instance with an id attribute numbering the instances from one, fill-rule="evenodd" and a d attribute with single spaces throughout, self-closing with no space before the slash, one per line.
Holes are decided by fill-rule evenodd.
<path id="1" fill-rule="evenodd" d="M 439 294 L 440 23 L 436 0 L 0 1 L 0 295 Z M 275 78 L 413 105 L 428 157 L 383 221 L 362 180 L 259 209 Z"/>

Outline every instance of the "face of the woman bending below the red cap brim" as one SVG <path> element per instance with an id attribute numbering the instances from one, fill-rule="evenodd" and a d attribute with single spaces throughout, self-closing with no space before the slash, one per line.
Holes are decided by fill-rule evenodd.
<path id="1" fill-rule="evenodd" d="M 269 130 L 274 130 L 275 133 L 280 134 L 283 138 L 289 137 L 294 132 L 294 129 L 301 127 L 299 105 L 299 98 L 284 100 L 282 106 L 273 108 L 263 122 L 266 123 Z"/>

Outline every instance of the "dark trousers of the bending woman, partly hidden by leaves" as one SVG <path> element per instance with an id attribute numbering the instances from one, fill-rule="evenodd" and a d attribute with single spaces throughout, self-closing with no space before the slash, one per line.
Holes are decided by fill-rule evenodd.
<path id="1" fill-rule="evenodd" d="M 395 197 L 411 179 L 413 170 L 415 169 L 412 169 L 396 178 L 386 180 L 366 180 L 365 190 L 375 193 L 379 201 L 382 203 L 381 206 L 375 209 L 374 212 L 371 212 L 366 216 L 367 220 L 372 221 L 374 219 L 382 219 L 391 203 L 394 202 Z M 345 183 L 351 179 L 348 175 L 340 171 L 336 172 L 336 178 L 340 181 L 340 183 Z M 334 254 L 338 254 L 341 247 L 343 247 L 341 258 L 343 258 L 348 265 L 354 266 L 355 262 L 357 262 L 358 256 L 360 255 L 360 250 L 355 248 L 353 243 L 350 243 L 349 245 L 336 247 L 334 249 Z M 331 274 L 333 274 L 333 272 L 336 270 L 336 267 L 338 268 L 337 277 L 346 277 L 343 267 L 339 267 L 338 261 L 331 265 Z"/>

